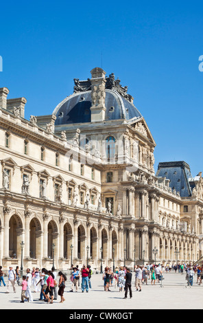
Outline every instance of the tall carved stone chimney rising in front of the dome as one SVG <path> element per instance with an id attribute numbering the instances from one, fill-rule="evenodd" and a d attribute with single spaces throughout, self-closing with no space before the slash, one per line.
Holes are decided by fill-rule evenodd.
<path id="1" fill-rule="evenodd" d="M 91 122 L 99 122 L 105 120 L 105 84 L 106 72 L 100 67 L 91 70 Z"/>

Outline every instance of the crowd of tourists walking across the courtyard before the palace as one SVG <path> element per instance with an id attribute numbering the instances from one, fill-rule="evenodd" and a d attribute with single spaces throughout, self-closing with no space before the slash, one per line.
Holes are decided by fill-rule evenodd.
<path id="1" fill-rule="evenodd" d="M 193 280 L 195 274 L 197 274 L 197 284 L 201 285 L 203 280 L 203 265 L 189 265 L 189 264 L 175 264 L 175 265 L 136 265 L 134 269 L 127 267 L 116 267 L 113 271 L 110 267 L 105 267 L 102 275 L 104 280 L 104 291 L 111 291 L 111 287 L 119 289 L 119 292 L 125 292 L 124 298 L 128 297 L 128 291 L 130 293 L 130 298 L 132 298 L 132 275 L 134 274 L 134 286 L 136 291 L 142 291 L 143 285 L 149 285 L 150 280 L 151 285 L 155 285 L 161 282 L 163 274 L 173 271 L 174 273 L 186 274 L 185 279 L 187 280 L 186 287 L 193 286 Z M 79 269 L 78 265 L 74 267 L 71 266 L 70 271 L 71 289 L 70 292 L 77 292 L 80 287 L 81 280 L 81 291 L 88 293 L 91 289 L 91 276 L 93 271 L 90 265 L 83 265 Z M 5 285 L 4 272 L 0 266 L 0 286 L 1 282 L 3 286 L 6 287 L 5 293 L 10 293 L 10 288 L 12 287 L 14 293 L 16 292 L 16 285 L 21 286 L 21 302 L 32 302 L 33 294 L 39 293 L 40 301 L 47 302 L 48 304 L 53 304 L 53 300 L 57 300 L 60 296 L 60 303 L 64 302 L 64 289 L 66 287 L 67 274 L 59 271 L 58 274 L 54 267 L 51 270 L 45 268 L 39 270 L 39 268 L 33 268 L 32 271 L 27 268 L 26 275 L 21 277 L 19 267 L 13 269 L 12 267 L 8 270 L 8 283 Z M 21 280 L 22 278 L 22 280 Z"/>

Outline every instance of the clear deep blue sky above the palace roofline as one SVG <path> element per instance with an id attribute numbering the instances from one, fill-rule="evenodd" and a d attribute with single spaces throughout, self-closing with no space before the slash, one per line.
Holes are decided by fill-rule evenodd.
<path id="1" fill-rule="evenodd" d="M 0 87 L 51 114 L 94 67 L 114 72 L 144 116 L 159 161 L 203 171 L 202 1 L 9 1 L 1 4 Z"/>

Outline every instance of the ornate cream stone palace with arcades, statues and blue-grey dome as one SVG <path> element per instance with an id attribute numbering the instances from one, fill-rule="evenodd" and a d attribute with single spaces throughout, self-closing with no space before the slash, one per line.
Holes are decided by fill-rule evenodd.
<path id="1" fill-rule="evenodd" d="M 145 118 L 115 74 L 96 67 L 50 115 L 0 89 L 0 265 L 99 270 L 194 263 L 203 179 L 160 162 Z"/>

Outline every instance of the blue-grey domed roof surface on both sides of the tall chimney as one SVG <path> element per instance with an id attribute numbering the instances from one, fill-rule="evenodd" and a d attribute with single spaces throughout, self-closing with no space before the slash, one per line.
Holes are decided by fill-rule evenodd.
<path id="1" fill-rule="evenodd" d="M 105 89 L 105 120 L 131 120 L 141 118 L 141 113 L 134 104 L 123 98 L 117 91 Z M 80 91 L 65 98 L 53 114 L 56 115 L 55 125 L 91 122 L 91 91 Z"/>

